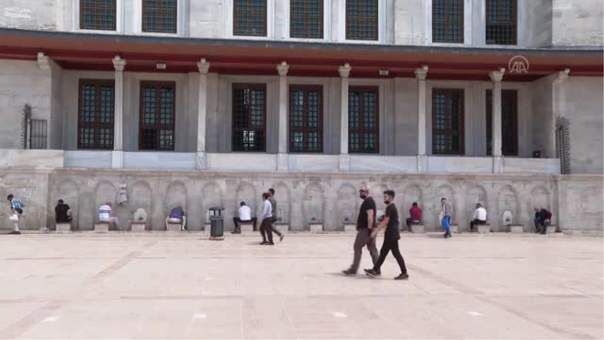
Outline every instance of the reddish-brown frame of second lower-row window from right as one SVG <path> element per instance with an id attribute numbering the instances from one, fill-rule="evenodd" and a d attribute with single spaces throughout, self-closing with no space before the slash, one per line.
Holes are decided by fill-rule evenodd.
<path id="1" fill-rule="evenodd" d="M 436 124 L 436 113 L 437 111 L 435 110 L 435 100 L 434 100 L 434 96 L 437 93 L 437 91 L 443 91 L 446 94 L 451 94 L 451 93 L 459 93 L 460 94 L 460 103 L 459 103 L 459 107 L 460 107 L 460 113 L 458 115 L 458 126 L 459 129 L 458 130 L 452 130 L 450 127 L 446 127 L 445 129 L 436 129 L 435 128 L 435 124 Z M 432 94 L 431 94 L 431 102 L 432 102 L 432 155 L 464 155 L 466 153 L 466 89 L 464 88 L 444 88 L 444 87 L 434 87 L 432 88 Z M 445 100 L 451 100 L 451 97 L 448 96 Z M 445 110 L 448 109 L 448 105 L 445 105 Z M 446 114 L 446 113 L 445 113 Z M 438 131 L 443 131 L 443 133 L 437 133 Z M 452 131 L 456 131 L 457 133 L 452 133 Z M 459 136 L 460 140 L 459 140 L 459 150 L 455 151 L 455 150 L 451 150 L 451 151 L 445 151 L 445 152 L 440 152 L 436 150 L 436 143 L 435 143 L 435 136 Z M 452 145 L 451 145 L 452 148 Z"/>

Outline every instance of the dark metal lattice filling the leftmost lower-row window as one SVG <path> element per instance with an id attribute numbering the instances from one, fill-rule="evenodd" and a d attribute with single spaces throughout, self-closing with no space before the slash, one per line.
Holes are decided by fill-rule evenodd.
<path id="1" fill-rule="evenodd" d="M 113 149 L 113 80 L 80 80 L 78 148 Z"/>

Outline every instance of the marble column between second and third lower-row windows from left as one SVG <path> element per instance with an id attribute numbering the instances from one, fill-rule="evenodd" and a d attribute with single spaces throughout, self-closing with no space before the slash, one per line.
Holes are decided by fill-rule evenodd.
<path id="1" fill-rule="evenodd" d="M 205 169 L 205 120 L 208 110 L 208 71 L 210 62 L 205 59 L 197 63 L 199 70 L 199 89 L 198 89 L 198 113 L 197 113 L 197 155 L 195 157 L 195 168 Z"/>

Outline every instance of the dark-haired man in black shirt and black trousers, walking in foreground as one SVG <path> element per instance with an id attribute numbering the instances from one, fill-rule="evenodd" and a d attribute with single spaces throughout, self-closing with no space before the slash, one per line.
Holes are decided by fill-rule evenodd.
<path id="1" fill-rule="evenodd" d="M 394 258 L 396 258 L 396 261 L 399 263 L 400 267 L 400 275 L 396 276 L 394 280 L 408 280 L 409 275 L 407 274 L 405 260 L 403 260 L 403 256 L 400 255 L 399 250 L 399 211 L 397 211 L 393 200 L 394 191 L 384 191 L 384 204 L 386 204 L 386 213 L 384 214 L 384 220 L 382 220 L 379 226 L 374 229 L 371 233 L 371 237 L 375 239 L 377 232 L 386 227 L 386 232 L 384 234 L 384 244 L 382 244 L 382 249 L 379 252 L 379 259 L 376 263 L 374 263 L 373 269 L 365 269 L 365 273 L 372 277 L 380 276 L 380 269 L 382 267 L 382 264 L 384 264 L 384 260 L 386 260 L 388 252 L 392 250 L 392 255 L 394 255 Z"/>

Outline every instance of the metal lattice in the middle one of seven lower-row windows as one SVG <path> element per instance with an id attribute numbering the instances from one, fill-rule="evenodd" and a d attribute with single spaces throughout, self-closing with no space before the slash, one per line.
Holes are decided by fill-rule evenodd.
<path id="1" fill-rule="evenodd" d="M 323 90 L 292 87 L 289 102 L 289 151 L 323 152 Z"/>

